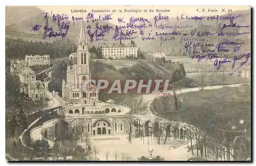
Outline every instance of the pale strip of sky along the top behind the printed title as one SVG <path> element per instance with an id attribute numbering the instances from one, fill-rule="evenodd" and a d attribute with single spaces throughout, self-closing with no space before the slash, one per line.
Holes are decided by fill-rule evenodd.
<path id="1" fill-rule="evenodd" d="M 180 16 L 182 14 L 184 15 L 189 15 L 189 16 L 209 16 L 209 15 L 223 15 L 228 13 L 228 9 L 232 10 L 232 11 L 238 11 L 238 10 L 247 10 L 250 9 L 250 6 L 39 6 L 39 8 L 41 10 L 44 10 L 45 12 L 51 12 L 55 13 L 55 14 L 67 14 L 69 17 L 81 17 L 82 13 L 72 13 L 72 10 L 79 10 L 79 9 L 83 9 L 83 10 L 87 10 L 87 13 L 83 13 L 83 17 L 86 17 L 87 14 L 89 12 L 92 12 L 92 9 L 110 9 L 111 11 L 113 9 L 116 9 L 117 12 L 113 13 L 94 13 L 94 15 L 97 17 L 97 15 L 100 14 L 113 14 L 111 20 L 109 20 L 111 23 L 117 24 L 117 18 L 120 17 L 124 17 L 124 20 L 129 20 L 130 17 L 144 17 L 147 19 L 151 19 L 154 18 L 155 15 L 158 14 L 158 12 L 156 12 L 156 9 L 169 9 L 170 12 L 166 12 L 166 13 L 161 13 L 164 15 L 167 15 L 169 17 L 176 17 L 176 16 Z M 118 12 L 118 9 L 135 9 L 135 10 L 142 10 L 141 13 L 120 13 Z M 145 9 L 147 9 L 147 12 L 143 12 Z M 155 12 L 148 12 L 150 9 L 155 9 Z M 198 12 L 197 11 L 200 11 Z M 202 9 L 205 9 L 206 12 L 202 12 Z M 211 10 L 218 10 L 218 12 L 208 12 L 208 9 Z M 226 12 L 222 12 L 222 9 L 225 9 Z"/>

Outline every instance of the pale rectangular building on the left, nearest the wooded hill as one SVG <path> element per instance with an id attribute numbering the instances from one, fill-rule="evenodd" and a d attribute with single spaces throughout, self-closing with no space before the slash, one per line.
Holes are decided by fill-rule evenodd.
<path id="1" fill-rule="evenodd" d="M 50 55 L 26 55 L 25 63 L 28 66 L 46 66 L 50 65 Z"/>

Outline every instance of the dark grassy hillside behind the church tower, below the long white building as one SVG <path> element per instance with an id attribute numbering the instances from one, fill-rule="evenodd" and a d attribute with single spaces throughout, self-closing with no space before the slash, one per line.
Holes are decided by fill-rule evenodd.
<path id="1" fill-rule="evenodd" d="M 116 66 L 111 64 L 106 64 L 101 61 L 90 61 L 90 73 L 91 79 L 96 80 L 108 80 L 109 86 L 106 89 L 109 89 L 115 80 L 120 80 L 121 86 L 125 84 L 126 80 L 170 80 L 172 82 L 176 82 L 179 79 L 185 77 L 185 70 L 183 64 L 179 63 L 170 63 L 168 64 L 169 68 L 172 70 L 162 70 L 162 67 L 159 64 L 151 63 L 147 61 L 136 61 L 134 65 L 129 67 L 122 67 L 117 69 Z M 104 60 L 108 61 L 108 60 Z M 73 64 L 76 64 L 75 60 L 72 60 Z M 69 62 L 70 63 L 70 62 Z M 167 65 L 167 64 L 166 64 Z M 67 63 L 64 61 L 59 62 L 56 66 L 54 66 L 54 72 L 52 77 L 55 78 L 49 84 L 49 90 L 54 89 L 55 91 L 61 92 L 62 79 L 66 80 L 67 74 Z M 179 71 L 179 72 L 177 72 Z M 175 73 L 175 77 L 173 77 Z M 178 75 L 178 76 L 177 76 Z M 145 89 L 144 89 L 145 90 Z M 153 88 L 151 90 L 154 90 Z M 143 92 L 143 89 L 142 89 Z M 108 98 L 109 94 L 106 94 L 106 91 L 100 92 L 100 98 Z"/>

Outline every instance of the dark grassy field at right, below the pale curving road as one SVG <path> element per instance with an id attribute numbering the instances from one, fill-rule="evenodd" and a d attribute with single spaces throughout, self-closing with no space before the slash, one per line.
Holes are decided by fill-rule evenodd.
<path id="1" fill-rule="evenodd" d="M 225 119 L 226 125 L 235 127 L 237 130 L 250 130 L 251 123 L 251 87 L 244 85 L 240 87 L 224 87 L 221 89 L 200 90 L 194 92 L 181 93 L 177 95 L 178 102 L 181 104 L 180 109 L 185 112 L 208 110 L 217 116 Z M 168 112 L 175 109 L 173 96 L 168 96 Z M 153 106 L 158 113 L 164 115 L 163 109 L 159 109 L 161 98 L 153 101 Z M 243 120 L 244 124 L 239 121 Z M 180 121 L 183 121 L 180 119 Z"/>

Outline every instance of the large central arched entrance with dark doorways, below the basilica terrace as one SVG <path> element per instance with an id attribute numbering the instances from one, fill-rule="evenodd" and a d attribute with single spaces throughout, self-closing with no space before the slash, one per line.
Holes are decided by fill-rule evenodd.
<path id="1" fill-rule="evenodd" d="M 111 135 L 111 123 L 99 120 L 93 125 L 93 135 Z"/>

